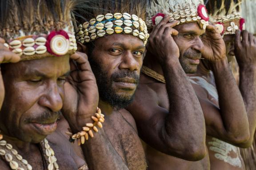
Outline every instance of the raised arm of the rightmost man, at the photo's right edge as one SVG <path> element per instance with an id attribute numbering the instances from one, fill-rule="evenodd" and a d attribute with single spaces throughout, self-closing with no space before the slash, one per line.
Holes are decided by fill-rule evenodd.
<path id="1" fill-rule="evenodd" d="M 250 139 L 241 147 L 250 147 L 256 128 L 256 39 L 248 31 L 236 32 L 235 54 L 239 65 L 239 89 L 247 111 Z"/>

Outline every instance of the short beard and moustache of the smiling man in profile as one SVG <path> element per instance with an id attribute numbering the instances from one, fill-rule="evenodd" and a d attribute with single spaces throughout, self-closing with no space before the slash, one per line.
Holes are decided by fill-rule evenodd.
<path id="1" fill-rule="evenodd" d="M 201 58 L 201 53 L 196 50 L 188 49 L 183 55 L 180 55 L 179 61 L 185 73 L 196 73 L 197 66 L 192 66 L 188 63 L 188 58 Z"/>

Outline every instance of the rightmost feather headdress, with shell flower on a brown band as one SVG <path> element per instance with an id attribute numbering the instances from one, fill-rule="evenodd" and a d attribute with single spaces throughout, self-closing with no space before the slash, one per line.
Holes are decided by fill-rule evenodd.
<path id="1" fill-rule="evenodd" d="M 208 0 L 206 8 L 210 21 L 215 23 L 222 35 L 235 34 L 245 29 L 245 20 L 241 17 L 241 0 Z"/>

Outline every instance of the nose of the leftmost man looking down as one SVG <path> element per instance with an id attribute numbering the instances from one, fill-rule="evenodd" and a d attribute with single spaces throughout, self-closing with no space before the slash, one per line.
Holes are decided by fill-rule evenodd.
<path id="1" fill-rule="evenodd" d="M 63 106 L 63 100 L 60 95 L 59 87 L 56 83 L 48 85 L 45 94 L 39 99 L 39 104 L 49 108 L 52 112 L 60 111 Z"/>

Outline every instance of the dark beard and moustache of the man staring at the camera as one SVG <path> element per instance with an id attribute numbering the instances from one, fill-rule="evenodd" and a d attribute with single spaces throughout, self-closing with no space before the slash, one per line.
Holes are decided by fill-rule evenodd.
<path id="1" fill-rule="evenodd" d="M 128 97 L 121 96 L 112 88 L 112 83 L 117 78 L 131 77 L 135 79 L 135 83 L 138 84 L 140 76 L 136 74 L 135 71 L 120 70 L 112 73 L 110 80 L 108 80 L 107 72 L 101 68 L 100 64 L 96 62 L 92 56 L 89 57 L 88 60 L 96 77 L 100 99 L 110 104 L 114 110 L 126 108 L 129 104 L 131 104 L 135 93 Z"/>

